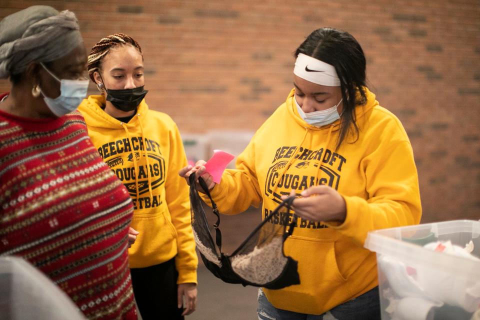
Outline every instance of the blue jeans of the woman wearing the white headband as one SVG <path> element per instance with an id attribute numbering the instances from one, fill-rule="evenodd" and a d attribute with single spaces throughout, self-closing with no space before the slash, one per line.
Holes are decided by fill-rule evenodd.
<path id="1" fill-rule="evenodd" d="M 329 311 L 315 315 L 275 308 L 258 289 L 259 320 L 380 320 L 380 298 L 378 287 L 363 293 Z"/>

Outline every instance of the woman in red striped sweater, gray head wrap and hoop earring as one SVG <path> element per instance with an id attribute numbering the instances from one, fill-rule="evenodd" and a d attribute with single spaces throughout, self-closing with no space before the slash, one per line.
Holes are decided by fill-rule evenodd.
<path id="1" fill-rule="evenodd" d="M 0 255 L 36 266 L 88 318 L 136 319 L 133 205 L 74 111 L 86 60 L 70 11 L 36 5 L 0 21 L 0 78 L 11 82 L 0 95 Z"/>

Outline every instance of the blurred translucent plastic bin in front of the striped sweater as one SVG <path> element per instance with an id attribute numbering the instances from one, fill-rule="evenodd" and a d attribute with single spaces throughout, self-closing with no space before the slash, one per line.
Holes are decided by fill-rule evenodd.
<path id="1" fill-rule="evenodd" d="M 23 258 L 0 256 L 0 319 L 85 320 L 70 298 Z"/>

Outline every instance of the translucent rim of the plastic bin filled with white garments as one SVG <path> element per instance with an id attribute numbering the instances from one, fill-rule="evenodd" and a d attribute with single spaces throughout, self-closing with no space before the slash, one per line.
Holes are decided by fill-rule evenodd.
<path id="1" fill-rule="evenodd" d="M 364 247 L 410 265 L 431 265 L 455 276 L 468 279 L 480 278 L 480 261 L 423 247 L 423 244 L 436 241 L 439 236 L 446 239 L 449 235 L 454 236 L 459 233 L 470 233 L 470 239 L 480 237 L 480 221 L 452 220 L 374 230 L 368 232 Z"/>

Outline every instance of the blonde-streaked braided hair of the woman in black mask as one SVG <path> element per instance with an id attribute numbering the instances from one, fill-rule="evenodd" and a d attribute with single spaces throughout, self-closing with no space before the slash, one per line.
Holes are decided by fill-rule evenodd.
<path id="1" fill-rule="evenodd" d="M 141 53 L 141 47 L 132 37 L 124 33 L 115 33 L 108 35 L 98 41 L 88 55 L 88 76 L 95 82 L 93 73 L 100 71 L 102 58 L 110 51 L 112 47 L 117 45 L 131 44 Z"/>

